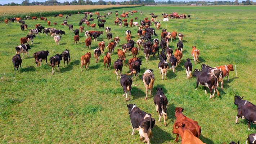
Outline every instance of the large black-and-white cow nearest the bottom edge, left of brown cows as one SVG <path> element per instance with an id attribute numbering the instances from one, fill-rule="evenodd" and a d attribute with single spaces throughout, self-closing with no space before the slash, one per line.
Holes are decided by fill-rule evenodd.
<path id="1" fill-rule="evenodd" d="M 150 113 L 146 113 L 139 109 L 135 104 L 127 104 L 128 112 L 130 114 L 131 125 L 133 132 L 131 135 L 134 135 L 134 129 L 139 131 L 140 139 L 147 144 L 150 144 L 149 138 L 152 136 L 152 129 L 155 125 L 155 119 L 152 118 Z"/>

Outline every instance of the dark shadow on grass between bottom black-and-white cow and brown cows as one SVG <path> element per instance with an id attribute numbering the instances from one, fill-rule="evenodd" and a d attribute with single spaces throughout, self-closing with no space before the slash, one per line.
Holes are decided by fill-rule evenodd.
<path id="1" fill-rule="evenodd" d="M 166 143 L 167 141 L 169 142 L 170 140 L 174 139 L 174 138 L 172 138 L 170 133 L 162 130 L 157 125 L 154 125 L 152 131 L 153 131 L 153 136 L 154 136 L 154 138 L 150 141 L 152 144 Z"/>

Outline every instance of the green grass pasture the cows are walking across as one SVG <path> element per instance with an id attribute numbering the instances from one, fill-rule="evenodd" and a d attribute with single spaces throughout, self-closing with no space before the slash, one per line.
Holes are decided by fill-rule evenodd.
<path id="1" fill-rule="evenodd" d="M 167 31 L 182 32 L 184 53 L 181 64 L 176 72 L 168 71 L 167 80 L 161 80 L 158 69 L 158 58 L 146 62 L 145 55 L 139 51 L 138 57 L 142 58 L 140 76 L 148 68 L 153 69 L 156 76 L 154 91 L 162 87 L 168 98 L 167 126 L 163 122 L 156 122 L 153 127 L 152 144 L 176 143 L 176 135 L 172 134 L 172 125 L 175 121 L 175 107 L 184 108 L 184 114 L 196 120 L 202 127 L 200 139 L 207 144 L 221 144 L 223 142 L 240 141 L 244 143 L 247 135 L 256 132 L 256 125 L 251 125 L 247 130 L 247 121 L 239 119 L 235 124 L 237 106 L 234 105 L 234 95 L 244 96 L 244 99 L 256 104 L 256 30 L 255 30 L 255 6 L 208 6 L 208 7 L 168 7 L 168 6 L 143 6 L 139 8 L 113 9 L 113 15 L 105 18 L 105 27 L 111 27 L 113 37 L 120 36 L 120 44 L 126 43 L 125 30 L 114 25 L 114 10 L 121 13 L 123 10 L 142 10 L 143 15 L 135 13 L 133 17 L 139 20 L 149 17 L 149 13 L 159 15 L 161 13 L 178 12 L 179 14 L 191 14 L 191 19 L 170 19 L 169 22 L 161 22 L 161 29 L 157 30 L 157 37 L 161 39 L 162 28 Z M 103 13 L 103 12 L 100 12 Z M 32 15 L 31 15 L 32 16 Z M 74 25 L 74 30 L 79 28 L 78 22 L 82 15 L 72 15 L 68 24 Z M 74 33 L 68 27 L 61 26 L 63 18 L 47 17 L 49 21 L 57 22 L 55 27 L 66 32 L 60 40 L 60 45 L 55 45 L 54 39 L 40 33 L 29 50 L 29 56 L 24 55 L 22 68 L 14 75 L 12 57 L 15 55 L 15 46 L 20 45 L 19 39 L 26 37 L 27 31 L 21 31 L 18 23 L 5 25 L 0 23 L 0 141 L 1 143 L 85 143 L 85 144 L 140 144 L 139 133 L 135 131 L 132 136 L 130 118 L 126 104 L 135 103 L 140 109 L 151 113 L 158 120 L 153 103 L 153 97 L 145 100 L 145 88 L 141 79 L 135 80 L 131 91 L 131 100 L 125 101 L 122 96 L 120 79 L 116 81 L 113 73 L 113 62 L 118 58 L 117 49 L 111 55 L 112 62 L 109 71 L 104 71 L 103 57 L 100 63 L 95 63 L 93 49 L 98 47 L 98 42 L 108 40 L 104 35 L 98 42 L 92 42 L 92 49 L 86 50 L 85 35 L 80 33 L 80 44 L 74 45 Z M 96 19 L 96 16 L 93 17 Z M 130 20 L 128 18 L 128 20 Z M 96 20 L 94 20 L 96 23 Z M 139 21 L 138 21 L 139 22 Z M 35 28 L 40 23 L 48 27 L 43 21 L 26 21 L 29 29 Z M 91 30 L 85 24 L 85 30 Z M 153 26 L 152 26 L 153 27 Z M 98 28 L 98 26 L 97 26 Z M 137 28 L 131 30 L 133 40 L 137 40 Z M 99 29 L 96 29 L 99 30 Z M 178 38 L 178 37 L 177 37 Z M 205 94 L 204 88 L 196 88 L 196 78 L 186 80 L 184 63 L 186 58 L 193 58 L 191 46 L 195 45 L 200 50 L 201 63 L 194 65 L 200 68 L 205 63 L 209 66 L 221 66 L 233 64 L 237 66 L 235 72 L 230 72 L 230 80 L 224 78 L 224 89 L 220 91 L 220 97 L 210 99 L 210 94 Z M 170 42 L 170 47 L 176 49 L 178 40 Z M 48 50 L 50 57 L 70 50 L 71 62 L 64 67 L 60 63 L 60 70 L 55 67 L 54 75 L 51 75 L 51 67 L 43 61 L 41 67 L 36 67 L 33 53 L 40 50 Z M 89 70 L 81 73 L 80 57 L 87 51 L 92 53 Z M 106 51 L 106 50 L 105 50 Z M 127 56 L 131 58 L 130 54 Z M 48 57 L 49 62 L 49 57 Z M 123 67 L 123 73 L 129 72 L 128 67 Z M 180 144 L 181 138 L 179 138 Z"/>

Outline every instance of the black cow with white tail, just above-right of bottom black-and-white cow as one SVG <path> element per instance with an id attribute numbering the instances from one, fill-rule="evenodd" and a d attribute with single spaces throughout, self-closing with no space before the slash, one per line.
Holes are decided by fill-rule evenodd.
<path id="1" fill-rule="evenodd" d="M 161 121 L 161 117 L 163 116 L 163 123 L 166 126 L 166 120 L 167 120 L 166 106 L 168 104 L 168 100 L 165 94 L 163 94 L 162 90 L 163 90 L 162 88 L 157 87 L 156 95 L 154 96 L 154 104 L 156 105 L 156 111 L 159 113 L 158 122 Z"/>

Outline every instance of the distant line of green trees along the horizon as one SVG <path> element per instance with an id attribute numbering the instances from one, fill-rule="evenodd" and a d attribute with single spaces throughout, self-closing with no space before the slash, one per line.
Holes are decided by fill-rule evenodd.
<path id="1" fill-rule="evenodd" d="M 99 0 L 97 2 L 93 2 L 91 0 L 73 0 L 73 1 L 64 1 L 64 3 L 60 3 L 57 0 L 48 0 L 45 2 L 38 2 L 33 1 L 30 3 L 29 0 L 22 1 L 21 4 L 17 3 L 8 3 L 4 4 L 4 6 L 9 5 L 162 5 L 162 4 L 168 4 L 168 5 L 191 5 L 191 4 L 197 4 L 197 5 L 256 5 L 256 2 L 253 2 L 252 0 L 246 0 L 242 2 L 238 2 L 238 0 L 235 1 L 158 1 L 155 2 L 154 0 L 129 0 L 129 1 L 103 1 Z M 0 4 L 0 6 L 2 6 Z"/>

